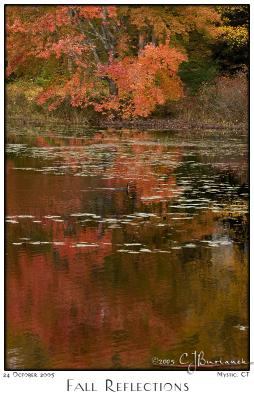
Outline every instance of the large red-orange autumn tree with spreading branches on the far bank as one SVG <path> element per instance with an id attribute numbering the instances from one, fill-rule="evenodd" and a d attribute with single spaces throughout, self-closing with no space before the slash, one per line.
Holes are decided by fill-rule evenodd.
<path id="1" fill-rule="evenodd" d="M 7 6 L 7 76 L 48 68 L 37 102 L 146 117 L 183 96 L 193 31 L 216 36 L 214 7 Z"/>

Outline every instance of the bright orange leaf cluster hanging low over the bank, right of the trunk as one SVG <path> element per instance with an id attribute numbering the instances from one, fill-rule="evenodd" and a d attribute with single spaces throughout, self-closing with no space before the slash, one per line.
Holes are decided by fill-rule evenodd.
<path id="1" fill-rule="evenodd" d="M 148 44 L 138 57 L 112 62 L 100 72 L 105 71 L 117 83 L 118 96 L 96 109 L 118 110 L 124 104 L 125 117 L 147 117 L 156 105 L 164 104 L 166 100 L 177 100 L 183 95 L 181 80 L 176 73 L 184 60 L 186 57 L 168 44 Z M 164 82 L 160 82 L 162 76 L 167 77 Z"/>

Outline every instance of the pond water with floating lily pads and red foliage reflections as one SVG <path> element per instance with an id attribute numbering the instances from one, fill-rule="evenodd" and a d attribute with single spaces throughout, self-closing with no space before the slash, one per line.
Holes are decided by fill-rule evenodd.
<path id="1" fill-rule="evenodd" d="M 34 126 L 6 139 L 8 368 L 248 361 L 246 135 Z"/>

